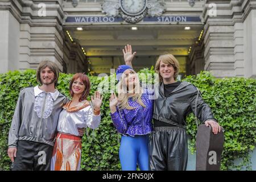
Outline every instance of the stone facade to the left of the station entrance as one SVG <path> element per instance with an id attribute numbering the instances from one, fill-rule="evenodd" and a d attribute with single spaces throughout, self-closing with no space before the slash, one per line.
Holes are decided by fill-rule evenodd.
<path id="1" fill-rule="evenodd" d="M 35 69 L 42 60 L 54 61 L 60 71 L 68 73 L 86 67 L 81 48 L 72 44 L 63 31 L 63 1 L 48 1 L 46 16 L 39 3 L 0 1 L 1 73 Z"/>

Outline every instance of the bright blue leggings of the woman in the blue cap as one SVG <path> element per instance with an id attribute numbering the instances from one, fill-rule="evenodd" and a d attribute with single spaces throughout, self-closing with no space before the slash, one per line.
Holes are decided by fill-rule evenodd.
<path id="1" fill-rule="evenodd" d="M 148 135 L 122 136 L 119 159 L 123 171 L 148 171 Z"/>

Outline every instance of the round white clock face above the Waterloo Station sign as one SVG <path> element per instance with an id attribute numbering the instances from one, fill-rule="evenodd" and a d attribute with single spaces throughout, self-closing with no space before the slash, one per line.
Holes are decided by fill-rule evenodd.
<path id="1" fill-rule="evenodd" d="M 128 15 L 139 15 L 146 9 L 147 0 L 120 0 L 120 6 Z"/>

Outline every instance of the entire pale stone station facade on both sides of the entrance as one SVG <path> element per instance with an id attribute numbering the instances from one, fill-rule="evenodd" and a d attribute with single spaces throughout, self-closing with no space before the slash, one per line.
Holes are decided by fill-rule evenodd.
<path id="1" fill-rule="evenodd" d="M 57 63 L 62 72 L 88 71 L 80 42 L 72 42 L 64 31 L 72 28 L 72 24 L 65 24 L 65 18 L 73 14 L 104 15 L 102 2 L 81 0 L 73 7 L 72 1 L 64 0 L 0 0 L 0 73 L 35 69 L 45 59 Z M 40 3 L 46 3 L 46 7 Z M 204 33 L 186 55 L 187 75 L 207 70 L 216 77 L 256 77 L 256 0 L 201 0 L 193 7 L 187 0 L 164 3 L 167 14 L 201 16 Z"/>

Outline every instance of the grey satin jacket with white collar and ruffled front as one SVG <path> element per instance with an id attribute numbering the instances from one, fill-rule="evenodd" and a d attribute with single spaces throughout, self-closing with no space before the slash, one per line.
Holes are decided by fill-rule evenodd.
<path id="1" fill-rule="evenodd" d="M 20 90 L 8 146 L 17 146 L 18 140 L 54 146 L 59 114 L 67 102 L 68 98 L 57 90 L 55 93 L 46 93 L 38 86 Z"/>

